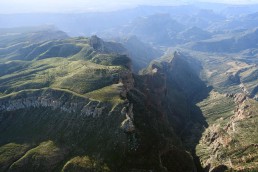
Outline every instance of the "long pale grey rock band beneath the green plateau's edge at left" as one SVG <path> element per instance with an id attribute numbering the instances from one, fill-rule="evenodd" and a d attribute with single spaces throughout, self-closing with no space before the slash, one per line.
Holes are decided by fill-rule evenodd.
<path id="1" fill-rule="evenodd" d="M 26 97 L 12 97 L 0 99 L 1 111 L 15 111 L 20 109 L 48 107 L 53 110 L 59 109 L 67 113 L 79 113 L 86 117 L 99 117 L 108 108 L 104 103 L 92 101 L 86 98 L 75 100 L 61 99 L 54 96 L 56 91 L 48 90 L 39 95 L 26 95 Z"/>

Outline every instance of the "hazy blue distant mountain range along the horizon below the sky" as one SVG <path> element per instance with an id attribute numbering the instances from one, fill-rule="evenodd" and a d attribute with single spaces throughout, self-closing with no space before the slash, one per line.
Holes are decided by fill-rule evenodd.
<path id="1" fill-rule="evenodd" d="M 169 14 L 174 20 L 187 27 L 214 28 L 254 25 L 248 15 L 258 11 L 257 5 L 228 5 L 216 3 L 195 3 L 180 6 L 139 6 L 114 12 L 90 12 L 79 14 L 0 14 L 1 27 L 55 25 L 71 36 L 90 36 L 98 32 L 126 25 L 138 17 L 154 14 Z M 236 18 L 234 18 L 234 16 Z M 247 18 L 245 18 L 247 16 Z M 240 19 L 239 19 L 240 17 Z M 242 18 L 242 19 L 241 19 Z M 78 24 L 77 21 L 81 21 Z M 245 23 L 246 22 L 246 23 Z M 216 23 L 216 25 L 214 25 Z M 222 23 L 222 24 L 219 24 Z M 231 24 L 230 24 L 231 23 Z M 241 25 L 240 25 L 241 24 Z M 243 27 L 241 26 L 241 27 Z M 211 28 L 210 28 L 211 29 Z"/>

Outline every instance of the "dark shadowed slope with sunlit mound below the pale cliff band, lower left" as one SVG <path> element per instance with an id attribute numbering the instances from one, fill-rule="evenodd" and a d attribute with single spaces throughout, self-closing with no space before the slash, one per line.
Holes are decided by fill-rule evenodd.
<path id="1" fill-rule="evenodd" d="M 112 169 L 122 168 L 126 135 L 120 124 L 125 117 L 118 112 L 94 119 L 33 108 L 1 117 L 1 171 L 61 171 L 70 159 L 82 155 L 105 161 Z"/>

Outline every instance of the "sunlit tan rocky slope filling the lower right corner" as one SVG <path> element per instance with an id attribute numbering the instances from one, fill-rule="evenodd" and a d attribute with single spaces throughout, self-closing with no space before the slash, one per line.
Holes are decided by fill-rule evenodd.
<path id="1" fill-rule="evenodd" d="M 202 161 L 203 166 L 211 172 L 255 170 L 257 134 L 253 127 L 258 118 L 257 102 L 245 93 L 226 97 L 233 100 L 235 108 L 232 115 L 217 119 L 204 132 L 198 147 L 202 148 L 201 158 L 207 153 L 209 156 Z"/>

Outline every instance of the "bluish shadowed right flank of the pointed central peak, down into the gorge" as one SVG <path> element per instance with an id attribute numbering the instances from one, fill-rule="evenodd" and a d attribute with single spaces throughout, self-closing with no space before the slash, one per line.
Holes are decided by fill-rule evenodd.
<path id="1" fill-rule="evenodd" d="M 167 117 L 169 126 L 193 155 L 198 171 L 203 171 L 196 146 L 208 124 L 196 104 L 208 97 L 212 87 L 199 77 L 202 64 L 176 51 L 150 67 L 157 72 L 149 72 L 142 86 L 149 89 L 148 100 Z"/>

